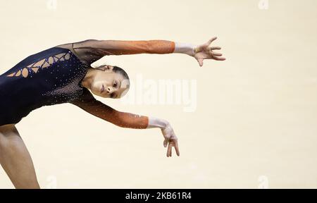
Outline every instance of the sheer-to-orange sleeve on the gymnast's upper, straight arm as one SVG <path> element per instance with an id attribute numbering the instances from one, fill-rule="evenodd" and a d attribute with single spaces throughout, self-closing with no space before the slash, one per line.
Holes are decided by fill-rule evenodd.
<path id="1" fill-rule="evenodd" d="M 73 49 L 82 59 L 93 63 L 106 55 L 170 54 L 175 50 L 175 42 L 167 40 L 123 41 L 88 39 L 74 43 Z"/>

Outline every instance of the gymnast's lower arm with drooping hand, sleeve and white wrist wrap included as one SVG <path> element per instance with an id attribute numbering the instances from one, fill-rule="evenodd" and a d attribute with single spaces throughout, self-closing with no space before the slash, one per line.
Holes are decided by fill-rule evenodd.
<path id="1" fill-rule="evenodd" d="M 163 145 L 168 146 L 167 156 L 172 155 L 172 147 L 175 147 L 176 153 L 180 154 L 178 150 L 178 138 L 175 136 L 173 128 L 170 126 L 168 121 L 159 118 L 149 118 L 147 116 L 139 116 L 133 113 L 125 113 L 121 111 L 116 111 L 115 109 L 103 104 L 92 96 L 92 93 L 84 88 L 84 93 L 82 97 L 70 101 L 71 104 L 79 106 L 80 109 L 97 116 L 104 121 L 111 122 L 122 128 L 135 128 L 135 129 L 145 129 L 145 128 L 161 128 L 161 132 L 165 138 Z"/>

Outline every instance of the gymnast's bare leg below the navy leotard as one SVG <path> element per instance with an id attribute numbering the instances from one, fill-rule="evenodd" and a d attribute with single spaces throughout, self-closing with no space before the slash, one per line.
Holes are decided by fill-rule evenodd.
<path id="1" fill-rule="evenodd" d="M 31 156 L 14 124 L 0 126 L 0 164 L 15 188 L 39 188 Z"/>

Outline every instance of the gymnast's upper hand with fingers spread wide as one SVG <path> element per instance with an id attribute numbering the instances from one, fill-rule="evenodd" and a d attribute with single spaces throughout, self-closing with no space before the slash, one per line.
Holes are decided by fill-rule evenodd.
<path id="1" fill-rule="evenodd" d="M 209 39 L 208 42 L 201 44 L 194 48 L 194 58 L 198 61 L 199 66 L 203 66 L 204 59 L 213 59 L 216 61 L 225 61 L 223 54 L 220 54 L 214 50 L 220 50 L 221 47 L 211 47 L 211 43 L 215 41 L 217 37 Z"/>

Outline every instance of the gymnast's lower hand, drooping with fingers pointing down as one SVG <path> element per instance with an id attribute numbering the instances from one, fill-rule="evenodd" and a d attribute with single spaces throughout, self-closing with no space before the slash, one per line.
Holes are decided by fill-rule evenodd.
<path id="1" fill-rule="evenodd" d="M 176 154 L 180 156 L 180 150 L 178 149 L 178 137 L 176 137 L 173 128 L 168 123 L 165 128 L 161 128 L 162 134 L 165 138 L 163 145 L 168 147 L 166 156 L 172 156 L 172 147 L 175 147 Z"/>

